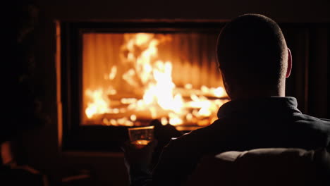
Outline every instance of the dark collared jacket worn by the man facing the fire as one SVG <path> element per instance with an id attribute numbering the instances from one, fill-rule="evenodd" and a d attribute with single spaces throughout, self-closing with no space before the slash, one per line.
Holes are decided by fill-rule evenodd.
<path id="1" fill-rule="evenodd" d="M 164 147 L 152 173 L 154 185 L 180 185 L 207 154 L 269 147 L 329 151 L 330 120 L 302 114 L 293 97 L 229 101 L 218 118 Z"/>

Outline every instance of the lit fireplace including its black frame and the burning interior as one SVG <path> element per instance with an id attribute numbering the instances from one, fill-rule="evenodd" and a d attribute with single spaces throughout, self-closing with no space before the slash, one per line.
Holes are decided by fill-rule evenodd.
<path id="1" fill-rule="evenodd" d="M 216 21 L 59 23 L 63 147 L 118 149 L 127 128 L 210 125 L 228 101 Z M 109 148 L 106 148 L 109 149 Z"/>

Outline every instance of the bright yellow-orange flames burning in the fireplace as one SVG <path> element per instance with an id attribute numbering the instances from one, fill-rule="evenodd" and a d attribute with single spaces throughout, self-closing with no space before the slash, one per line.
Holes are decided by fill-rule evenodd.
<path id="1" fill-rule="evenodd" d="M 124 34 L 125 42 L 121 46 L 123 63 L 130 68 L 119 73 L 117 66 L 112 66 L 105 80 L 114 80 L 120 75 L 121 80 L 134 89 L 137 97 L 122 97 L 118 101 L 109 96 L 118 94 L 118 90 L 86 89 L 87 102 L 85 115 L 94 118 L 104 114 L 122 115 L 122 118 L 102 119 L 105 125 L 135 125 L 141 118 L 159 118 L 163 125 L 182 125 L 197 123 L 209 125 L 216 118 L 219 106 L 228 101 L 223 87 L 206 87 L 194 89 L 188 83 L 190 96 L 183 95 L 183 87 L 176 87 L 172 80 L 171 61 L 162 61 L 158 55 L 158 45 L 171 41 L 171 37 L 155 37 L 154 34 Z M 181 90 L 181 91 L 180 91 Z M 127 113 L 121 114 L 121 113 Z"/>

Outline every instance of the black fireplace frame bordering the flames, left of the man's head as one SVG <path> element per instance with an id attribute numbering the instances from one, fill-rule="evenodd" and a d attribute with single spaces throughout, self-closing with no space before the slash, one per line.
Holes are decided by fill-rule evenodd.
<path id="1" fill-rule="evenodd" d="M 61 87 L 61 140 L 63 151 L 121 151 L 128 140 L 128 127 L 80 125 L 82 114 L 82 34 L 86 32 L 212 32 L 219 33 L 224 20 L 120 20 L 110 22 L 70 22 L 57 24 L 59 30 Z"/>

